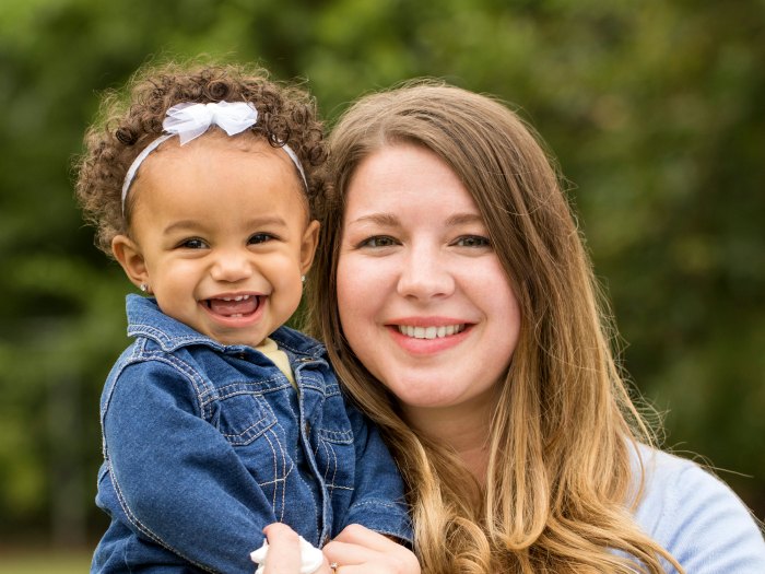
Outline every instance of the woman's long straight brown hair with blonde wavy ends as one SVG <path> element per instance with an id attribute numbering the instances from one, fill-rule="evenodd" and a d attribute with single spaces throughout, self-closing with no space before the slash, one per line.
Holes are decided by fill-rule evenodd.
<path id="1" fill-rule="evenodd" d="M 354 355 L 338 315 L 349 184 L 365 157 L 400 143 L 429 150 L 459 176 L 521 308 L 486 437 L 484 485 L 449 445 L 407 424 Z M 561 178 L 533 131 L 491 97 L 420 81 L 353 104 L 330 137 L 330 163 L 308 329 L 327 342 L 340 379 L 401 468 L 423 572 L 656 574 L 659 557 L 682 572 L 632 517 L 642 475 L 631 460 L 651 435 L 614 360 L 615 332 Z"/>

